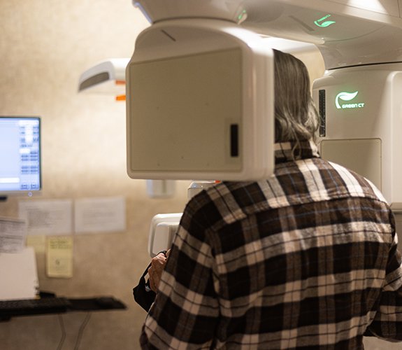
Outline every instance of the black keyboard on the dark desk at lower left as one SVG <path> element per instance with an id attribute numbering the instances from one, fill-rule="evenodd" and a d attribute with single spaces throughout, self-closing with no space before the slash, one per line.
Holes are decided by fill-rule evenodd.
<path id="1" fill-rule="evenodd" d="M 59 314 L 66 312 L 71 302 L 65 297 L 0 301 L 0 316 L 23 316 L 32 314 Z"/>

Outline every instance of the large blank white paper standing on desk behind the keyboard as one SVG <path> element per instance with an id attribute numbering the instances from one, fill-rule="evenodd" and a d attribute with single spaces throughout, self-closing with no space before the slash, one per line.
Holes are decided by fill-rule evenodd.
<path id="1" fill-rule="evenodd" d="M 34 248 L 0 253 L 0 300 L 33 299 L 38 293 Z"/>

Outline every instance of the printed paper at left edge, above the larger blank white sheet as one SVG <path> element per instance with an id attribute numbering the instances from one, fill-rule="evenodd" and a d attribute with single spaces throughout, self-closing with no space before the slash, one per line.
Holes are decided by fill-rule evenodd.
<path id="1" fill-rule="evenodd" d="M 25 221 L 0 218 L 0 253 L 22 251 L 27 237 Z"/>

